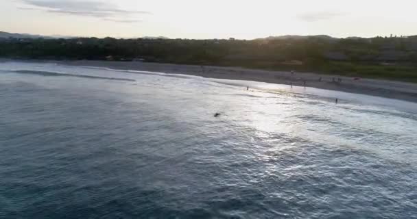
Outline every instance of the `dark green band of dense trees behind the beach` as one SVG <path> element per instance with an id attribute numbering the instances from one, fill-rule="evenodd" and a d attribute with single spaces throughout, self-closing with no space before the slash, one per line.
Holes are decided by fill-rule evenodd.
<path id="1" fill-rule="evenodd" d="M 258 40 L 14 39 L 0 40 L 0 57 L 118 60 L 318 71 L 417 81 L 417 36 L 278 37 Z"/>

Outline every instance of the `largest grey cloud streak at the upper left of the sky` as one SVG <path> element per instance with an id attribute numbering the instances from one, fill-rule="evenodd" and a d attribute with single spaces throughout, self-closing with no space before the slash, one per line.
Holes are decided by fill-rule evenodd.
<path id="1" fill-rule="evenodd" d="M 19 8 L 22 10 L 41 10 L 56 14 L 70 14 L 75 16 L 93 16 L 98 18 L 121 18 L 126 16 L 137 16 L 151 14 L 139 10 L 123 10 L 111 3 L 95 0 L 21 0 L 31 8 Z M 121 19 L 120 21 L 123 21 Z M 127 20 L 126 20 L 127 21 Z M 130 20 L 132 21 L 132 19 Z"/>

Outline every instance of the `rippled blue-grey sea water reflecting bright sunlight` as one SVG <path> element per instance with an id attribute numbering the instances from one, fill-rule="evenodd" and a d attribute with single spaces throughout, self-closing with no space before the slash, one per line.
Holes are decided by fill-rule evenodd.
<path id="1" fill-rule="evenodd" d="M 1 63 L 0 218 L 416 218 L 417 105 L 293 89 Z"/>

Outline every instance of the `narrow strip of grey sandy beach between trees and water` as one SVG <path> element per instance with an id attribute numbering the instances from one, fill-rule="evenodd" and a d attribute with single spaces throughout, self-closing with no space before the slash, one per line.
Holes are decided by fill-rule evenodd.
<path id="1" fill-rule="evenodd" d="M 1 61 L 1 60 L 0 60 Z M 5 60 L 3 60 L 5 61 Z M 17 60 L 9 60 L 16 61 Z M 32 62 L 28 60 L 26 62 Z M 383 79 L 361 78 L 339 75 L 325 75 L 320 73 L 294 73 L 272 70 L 254 70 L 241 67 L 195 66 L 184 64 L 163 64 L 154 62 L 114 62 L 114 61 L 38 61 L 68 66 L 92 66 L 114 68 L 118 70 L 144 70 L 169 74 L 195 75 L 214 79 L 231 79 L 243 81 L 259 81 L 293 86 L 305 86 L 324 90 L 336 90 L 355 94 L 381 96 L 417 103 L 417 83 L 403 81 L 387 81 Z M 320 77 L 322 78 L 319 81 Z M 333 81 L 333 78 L 335 81 Z M 341 82 L 337 82 L 342 79 Z"/>

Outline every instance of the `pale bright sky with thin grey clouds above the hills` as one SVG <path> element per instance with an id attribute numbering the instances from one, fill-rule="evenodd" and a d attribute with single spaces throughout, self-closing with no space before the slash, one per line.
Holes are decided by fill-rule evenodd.
<path id="1" fill-rule="evenodd" d="M 62 36 L 410 36 L 415 0 L 1 0 L 0 31 Z"/>

